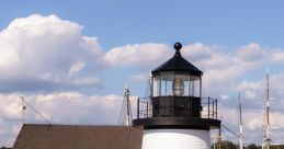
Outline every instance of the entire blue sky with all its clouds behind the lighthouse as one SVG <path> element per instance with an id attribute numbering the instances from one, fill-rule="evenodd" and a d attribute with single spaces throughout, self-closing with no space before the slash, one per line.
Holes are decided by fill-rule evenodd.
<path id="1" fill-rule="evenodd" d="M 245 145 L 262 141 L 269 69 L 272 139 L 284 144 L 283 4 L 2 0 L 0 146 L 12 146 L 22 126 L 23 92 L 53 124 L 116 125 L 125 84 L 135 113 L 150 71 L 173 56 L 175 42 L 203 71 L 203 96 L 219 100 L 219 118 L 235 130 L 241 92 Z M 25 123 L 45 122 L 27 107 Z"/>

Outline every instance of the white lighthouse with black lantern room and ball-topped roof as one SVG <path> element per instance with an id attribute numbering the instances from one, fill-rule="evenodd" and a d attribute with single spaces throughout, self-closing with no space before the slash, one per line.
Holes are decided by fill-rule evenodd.
<path id="1" fill-rule="evenodd" d="M 150 95 L 137 101 L 141 149 L 211 149 L 211 129 L 219 128 L 217 100 L 202 98 L 203 72 L 182 57 L 180 43 L 168 61 L 151 71 Z"/>

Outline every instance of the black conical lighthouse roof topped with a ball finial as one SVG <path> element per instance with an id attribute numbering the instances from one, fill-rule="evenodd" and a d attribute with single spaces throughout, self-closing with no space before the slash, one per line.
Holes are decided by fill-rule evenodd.
<path id="1" fill-rule="evenodd" d="M 185 72 L 194 76 L 202 76 L 203 72 L 197 69 L 195 66 L 193 66 L 191 62 L 189 62 L 186 59 L 184 59 L 181 56 L 180 49 L 181 49 L 181 44 L 175 43 L 174 44 L 175 48 L 175 54 L 174 56 L 152 70 L 152 74 L 158 74 L 161 71 L 175 71 L 175 72 Z"/>

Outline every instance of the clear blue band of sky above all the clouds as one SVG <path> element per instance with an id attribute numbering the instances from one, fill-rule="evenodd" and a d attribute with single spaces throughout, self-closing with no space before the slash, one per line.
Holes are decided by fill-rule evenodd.
<path id="1" fill-rule="evenodd" d="M 283 1 L 2 1 L 3 28 L 14 18 L 56 14 L 84 26 L 102 47 L 203 42 L 229 47 L 258 42 L 283 47 Z"/>

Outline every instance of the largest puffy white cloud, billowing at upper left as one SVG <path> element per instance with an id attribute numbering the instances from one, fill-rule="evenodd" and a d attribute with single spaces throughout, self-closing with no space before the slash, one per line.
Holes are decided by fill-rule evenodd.
<path id="1" fill-rule="evenodd" d="M 12 21 L 0 32 L 0 90 L 58 90 L 99 69 L 98 39 L 82 36 L 81 30 L 56 15 Z"/>

